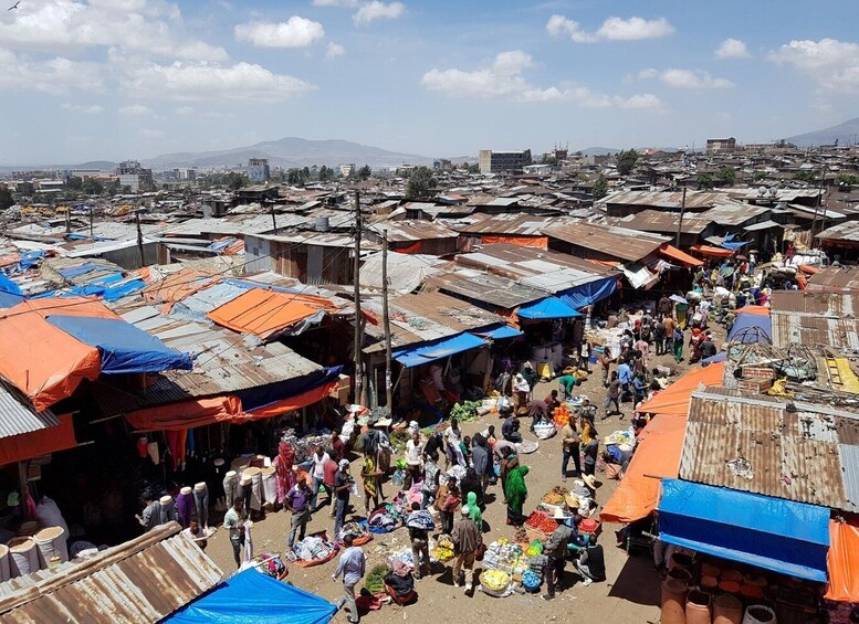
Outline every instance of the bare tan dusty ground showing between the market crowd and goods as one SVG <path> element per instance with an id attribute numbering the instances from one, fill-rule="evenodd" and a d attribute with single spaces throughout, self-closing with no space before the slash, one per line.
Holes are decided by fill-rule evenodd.
<path id="1" fill-rule="evenodd" d="M 721 343 L 724 331 L 721 327 L 713 328 Z M 687 336 L 689 336 L 687 334 Z M 689 366 L 681 363 L 673 364 L 673 360 L 668 357 L 652 358 L 651 364 L 666 363 L 674 366 L 680 373 L 685 372 Z M 696 366 L 696 364 L 695 364 Z M 599 406 L 601 416 L 601 405 L 605 398 L 605 390 L 599 382 L 599 373 L 591 366 L 591 378 L 584 383 L 580 393 L 587 394 L 591 401 Z M 555 383 L 542 383 L 535 391 L 540 399 L 548 394 L 548 391 L 555 388 Z M 622 409 L 628 414 L 631 412 L 631 404 L 626 403 Z M 620 421 L 617 415 L 601 422 L 597 422 L 597 427 L 601 435 L 606 435 L 617 429 L 628 426 L 628 421 Z M 488 424 L 495 424 L 500 432 L 501 421 L 496 416 L 489 416 L 480 422 L 468 423 L 463 425 L 467 434 L 471 435 L 485 429 Z M 526 440 L 536 440 L 527 427 L 523 426 L 523 433 Z M 525 505 L 525 514 L 531 512 L 543 494 L 548 491 L 555 485 L 561 484 L 559 463 L 561 463 L 561 440 L 555 436 L 541 442 L 540 450 L 531 455 L 522 457 L 523 464 L 531 467 L 527 476 L 527 486 L 530 490 L 528 501 Z M 570 469 L 573 469 L 570 463 Z M 353 476 L 358 478 L 358 466 L 353 463 Z M 617 482 L 600 478 L 597 472 L 597 479 L 603 483 L 597 491 L 597 501 L 604 504 L 615 490 Z M 385 494 L 390 497 L 394 487 L 386 484 Z M 491 487 L 489 499 L 492 495 L 500 495 L 497 486 Z M 321 500 L 327 500 L 321 497 Z M 354 511 L 363 514 L 363 500 L 354 505 Z M 490 503 L 483 518 L 491 529 L 484 533 L 484 541 L 490 542 L 503 537 L 511 538 L 513 530 L 507 527 L 505 520 L 505 507 L 501 499 Z M 350 516 L 347 516 L 350 519 Z M 327 529 L 332 531 L 334 527 L 333 518 L 328 517 L 327 508 L 321 508 L 308 525 L 308 532 Z M 366 622 L 392 622 L 395 620 L 408 620 L 431 615 L 437 621 L 453 621 L 462 618 L 463 615 L 479 616 L 486 621 L 492 618 L 497 623 L 506 622 L 548 622 L 563 621 L 572 614 L 589 615 L 590 618 L 598 618 L 612 623 L 646 623 L 659 621 L 659 582 L 658 574 L 653 571 L 652 560 L 641 553 L 627 557 L 624 550 L 615 547 L 614 530 L 619 526 L 607 525 L 604 530 L 600 543 L 603 543 L 606 553 L 606 569 L 608 580 L 603 583 L 594 583 L 590 586 L 583 586 L 577 582 L 578 575 L 570 571 L 572 563 L 567 563 L 564 589 L 557 595 L 554 602 L 545 602 L 538 594 L 513 594 L 505 599 L 495 599 L 475 592 L 473 597 L 463 595 L 462 589 L 455 589 L 452 585 L 451 572 L 449 567 L 438 568 L 432 577 L 423 578 L 416 583 L 418 591 L 417 602 L 400 607 L 396 605 L 385 605 L 380 611 L 371 612 L 362 621 Z M 289 514 L 279 511 L 270 514 L 264 520 L 258 522 L 253 529 L 254 547 L 258 552 L 263 550 L 281 551 L 286 546 L 289 530 Z M 398 529 L 391 533 L 375 536 L 374 540 L 364 547 L 367 553 L 367 570 L 377 563 L 385 562 L 386 553 L 389 550 L 396 550 L 408 544 L 408 533 L 406 529 Z M 209 542 L 207 553 L 224 571 L 234 569 L 232 560 L 232 550 L 224 531 L 219 531 Z M 315 568 L 302 569 L 294 565 L 290 567 L 290 581 L 302 589 L 321 595 L 332 602 L 341 596 L 342 585 L 334 582 L 331 574 L 336 567 L 336 560 Z M 443 571 L 443 572 L 442 572 Z M 347 622 L 344 612 L 339 612 L 334 622 Z"/>

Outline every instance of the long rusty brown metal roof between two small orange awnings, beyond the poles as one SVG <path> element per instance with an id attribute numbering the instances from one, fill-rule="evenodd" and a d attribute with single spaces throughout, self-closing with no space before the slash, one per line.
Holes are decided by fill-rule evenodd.
<path id="1" fill-rule="evenodd" d="M 547 228 L 543 233 L 579 247 L 630 262 L 640 261 L 656 252 L 662 243 L 671 240 L 650 232 L 583 221 Z"/>

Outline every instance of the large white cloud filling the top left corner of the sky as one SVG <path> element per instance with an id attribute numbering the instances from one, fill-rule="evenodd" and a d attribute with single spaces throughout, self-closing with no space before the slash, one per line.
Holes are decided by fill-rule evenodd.
<path id="1" fill-rule="evenodd" d="M 178 7 L 164 0 L 22 3 L 0 23 L 0 45 L 40 52 L 116 46 L 170 59 L 228 59 L 222 47 L 190 36 Z"/>

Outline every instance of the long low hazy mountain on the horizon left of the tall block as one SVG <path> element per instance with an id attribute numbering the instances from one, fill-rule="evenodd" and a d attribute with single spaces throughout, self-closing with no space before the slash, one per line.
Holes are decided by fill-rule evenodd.
<path id="1" fill-rule="evenodd" d="M 313 165 L 335 167 L 341 162 L 354 162 L 358 167 L 362 165 L 396 167 L 404 163 L 432 163 L 432 159 L 426 156 L 388 151 L 342 139 L 308 140 L 297 137 L 263 141 L 220 151 L 165 154 L 146 159 L 143 163 L 153 169 L 223 167 L 238 163 L 247 165 L 249 158 L 268 158 L 269 165 L 272 167 L 310 167 Z"/>

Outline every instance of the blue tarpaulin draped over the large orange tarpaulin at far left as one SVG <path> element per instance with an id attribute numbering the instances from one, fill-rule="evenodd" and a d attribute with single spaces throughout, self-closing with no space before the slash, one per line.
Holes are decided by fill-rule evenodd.
<path id="1" fill-rule="evenodd" d="M 190 356 L 167 348 L 150 336 L 119 318 L 49 316 L 48 322 L 81 342 L 102 352 L 102 372 L 106 374 L 190 370 Z"/>

